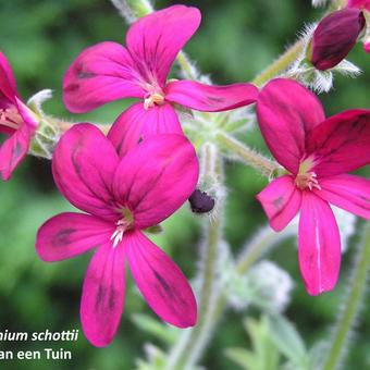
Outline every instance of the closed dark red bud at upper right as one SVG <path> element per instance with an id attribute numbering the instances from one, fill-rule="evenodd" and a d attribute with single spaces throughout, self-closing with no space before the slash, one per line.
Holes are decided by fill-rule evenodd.
<path id="1" fill-rule="evenodd" d="M 343 9 L 325 16 L 317 26 L 309 60 L 318 70 L 332 69 L 345 59 L 365 27 L 358 9 Z"/>

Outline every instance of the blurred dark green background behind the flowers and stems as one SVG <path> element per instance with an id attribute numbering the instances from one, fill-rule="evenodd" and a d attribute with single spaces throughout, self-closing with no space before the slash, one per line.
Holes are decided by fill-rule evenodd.
<path id="1" fill-rule="evenodd" d="M 176 2 L 200 8 L 202 24 L 185 50 L 203 73 L 210 74 L 220 84 L 251 79 L 295 40 L 295 35 L 305 23 L 314 21 L 321 14 L 320 10 L 311 8 L 309 0 Z M 156 8 L 172 3 L 158 0 Z M 26 99 L 44 88 L 54 90 L 54 98 L 45 104 L 48 113 L 65 120 L 110 123 L 128 104 L 126 100 L 119 101 L 77 116 L 69 113 L 61 102 L 61 78 L 79 51 L 103 40 L 124 41 L 127 27 L 108 0 L 1 0 L 0 25 L 0 49 L 12 64 L 22 96 Z M 335 88 L 320 97 L 328 114 L 349 108 L 369 108 L 370 63 L 369 57 L 366 57 L 358 45 L 349 60 L 362 69 L 363 75 L 357 79 L 337 76 Z M 258 134 L 256 138 L 245 139 L 263 148 Z M 226 171 L 230 187 L 225 234 L 233 250 L 237 251 L 248 236 L 266 222 L 255 199 L 255 194 L 266 185 L 266 180 L 240 164 L 229 164 Z M 89 256 L 48 264 L 37 258 L 34 248 L 39 225 L 70 209 L 53 186 L 50 163 L 46 160 L 27 158 L 11 182 L 0 183 L 0 331 L 81 329 L 81 286 Z M 157 242 L 173 256 L 187 276 L 194 276 L 199 222 L 194 220 L 186 206 L 164 226 L 165 232 Z M 281 246 L 271 258 L 295 276 L 296 287 L 287 316 L 307 343 L 312 344 L 328 333 L 328 325 L 338 313 L 343 282 L 353 252 L 349 251 L 344 258 L 337 288 L 312 298 L 305 293 L 298 276 L 295 243 L 292 239 Z M 149 341 L 157 343 L 156 338 L 134 325 L 131 320 L 134 312 L 149 310 L 128 280 L 125 312 L 111 346 L 95 348 L 81 332 L 77 343 L 53 345 L 72 350 L 72 361 L 0 361 L 0 368 L 132 369 L 135 358 L 144 356 L 144 344 Z M 203 363 L 209 369 L 235 367 L 223 356 L 221 348 L 248 345 L 240 325 L 242 318 L 243 314 L 233 311 L 223 318 L 222 329 L 205 356 Z M 363 310 L 358 329 L 349 349 L 348 369 L 370 368 L 368 309 Z M 42 348 L 40 343 L 30 342 L 0 342 L 0 346 L 1 350 Z"/>

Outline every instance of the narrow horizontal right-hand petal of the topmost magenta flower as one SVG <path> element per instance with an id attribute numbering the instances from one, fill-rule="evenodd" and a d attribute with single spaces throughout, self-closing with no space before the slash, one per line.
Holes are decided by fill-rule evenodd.
<path id="1" fill-rule="evenodd" d="M 205 112 L 220 112 L 244 107 L 257 100 L 258 89 L 251 84 L 210 86 L 196 81 L 175 81 L 165 88 L 165 99 Z"/>

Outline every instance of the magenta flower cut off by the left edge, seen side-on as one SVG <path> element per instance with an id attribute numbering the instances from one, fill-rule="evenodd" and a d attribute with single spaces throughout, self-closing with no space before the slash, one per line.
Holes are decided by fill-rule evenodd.
<path id="1" fill-rule="evenodd" d="M 27 155 L 38 123 L 20 98 L 12 69 L 0 52 L 0 134 L 8 138 L 0 147 L 0 175 L 8 181 Z"/>

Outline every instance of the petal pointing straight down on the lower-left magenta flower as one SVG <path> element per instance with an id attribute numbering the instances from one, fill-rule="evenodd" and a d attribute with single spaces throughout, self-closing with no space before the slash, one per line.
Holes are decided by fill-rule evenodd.
<path id="1" fill-rule="evenodd" d="M 123 246 L 100 247 L 87 269 L 81 299 L 81 321 L 88 341 L 103 347 L 119 328 L 125 294 Z"/>

